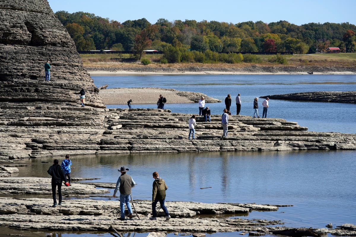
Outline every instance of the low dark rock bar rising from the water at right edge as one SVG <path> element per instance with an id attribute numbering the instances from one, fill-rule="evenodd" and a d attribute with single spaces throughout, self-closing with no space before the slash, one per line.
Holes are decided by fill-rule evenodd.
<path id="1" fill-rule="evenodd" d="M 281 95 L 260 96 L 270 99 L 291 99 L 297 101 L 321 101 L 335 103 L 356 103 L 356 91 L 311 91 Z"/>

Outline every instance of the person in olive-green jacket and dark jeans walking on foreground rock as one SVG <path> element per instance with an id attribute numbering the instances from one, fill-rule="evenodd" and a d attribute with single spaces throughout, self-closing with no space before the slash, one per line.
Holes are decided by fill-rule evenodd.
<path id="1" fill-rule="evenodd" d="M 171 219 L 171 216 L 168 213 L 166 206 L 164 205 L 164 201 L 166 199 L 166 190 L 168 189 L 166 182 L 160 177 L 158 177 L 157 172 L 153 172 L 153 181 L 152 184 L 152 217 L 150 220 L 157 220 L 157 213 L 156 213 L 156 205 L 159 202 L 161 208 L 166 216 L 166 220 Z"/>

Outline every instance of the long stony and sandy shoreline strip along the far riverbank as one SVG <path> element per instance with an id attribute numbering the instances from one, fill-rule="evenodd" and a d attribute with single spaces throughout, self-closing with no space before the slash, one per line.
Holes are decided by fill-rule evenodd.
<path id="1" fill-rule="evenodd" d="M 134 75 L 134 74 L 355 74 L 355 67 L 346 66 L 246 66 L 246 67 L 87 67 L 90 75 Z"/>

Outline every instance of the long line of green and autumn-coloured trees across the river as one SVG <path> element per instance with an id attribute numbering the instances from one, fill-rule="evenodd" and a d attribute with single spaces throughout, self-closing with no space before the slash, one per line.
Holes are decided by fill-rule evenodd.
<path id="1" fill-rule="evenodd" d="M 183 54 L 183 58 L 184 54 L 193 55 L 186 52 L 201 52 L 204 55 L 241 51 L 305 54 L 324 52 L 329 47 L 339 47 L 341 52 L 356 52 L 356 26 L 349 22 L 297 26 L 287 21 L 169 22 L 160 18 L 151 24 L 145 18 L 120 23 L 87 12 L 69 14 L 58 11 L 55 15 L 68 30 L 78 51 L 135 50 L 137 58 L 141 58 L 146 49 Z M 197 57 L 199 55 L 195 55 Z"/>

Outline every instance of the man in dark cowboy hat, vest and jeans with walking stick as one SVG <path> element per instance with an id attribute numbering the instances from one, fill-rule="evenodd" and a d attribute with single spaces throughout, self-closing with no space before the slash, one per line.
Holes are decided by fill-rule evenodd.
<path id="1" fill-rule="evenodd" d="M 125 204 L 127 207 L 127 210 L 129 211 L 129 218 L 132 218 L 132 209 L 130 205 L 130 194 L 131 194 L 131 188 L 135 186 L 135 181 L 126 174 L 129 169 L 125 168 L 124 166 L 121 167 L 120 169 L 117 169 L 118 171 L 121 172 L 121 176 L 117 179 L 116 182 L 116 187 L 114 190 L 114 195 L 113 197 L 116 198 L 116 193 L 117 190 L 120 190 L 120 218 L 119 220 L 123 221 L 125 220 Z"/>

